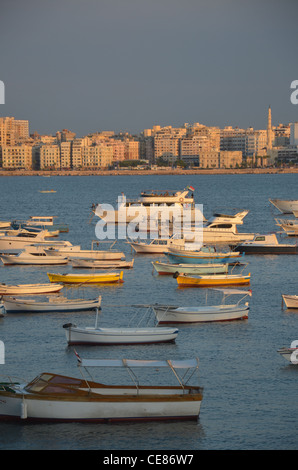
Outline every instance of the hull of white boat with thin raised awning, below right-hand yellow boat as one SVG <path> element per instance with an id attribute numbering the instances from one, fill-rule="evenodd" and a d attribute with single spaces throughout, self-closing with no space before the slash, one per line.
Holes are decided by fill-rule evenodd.
<path id="1" fill-rule="evenodd" d="M 216 305 L 206 307 L 153 307 L 159 324 L 167 323 L 207 323 L 248 318 L 247 305 Z"/>

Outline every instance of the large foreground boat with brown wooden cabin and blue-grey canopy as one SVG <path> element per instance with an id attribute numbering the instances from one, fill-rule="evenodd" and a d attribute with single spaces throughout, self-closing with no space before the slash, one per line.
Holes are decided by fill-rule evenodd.
<path id="1" fill-rule="evenodd" d="M 198 359 L 99 360 L 81 359 L 78 366 L 122 368 L 132 376 L 136 369 L 152 367 L 174 372 L 179 385 L 105 385 L 84 378 L 42 373 L 27 384 L 3 383 L 0 389 L 0 419 L 3 421 L 123 422 L 197 420 L 203 399 L 202 388 L 189 385 L 198 369 Z M 179 371 L 186 372 L 183 378 Z M 163 373 L 164 375 L 164 373 Z"/>

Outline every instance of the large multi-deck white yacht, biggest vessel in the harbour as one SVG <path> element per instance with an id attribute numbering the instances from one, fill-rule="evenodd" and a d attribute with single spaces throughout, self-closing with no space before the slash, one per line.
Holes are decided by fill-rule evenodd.
<path id="1" fill-rule="evenodd" d="M 144 215 L 149 219 L 153 212 L 158 214 L 158 218 L 165 217 L 169 222 L 175 217 L 183 214 L 183 209 L 190 209 L 191 220 L 196 220 L 196 207 L 193 195 L 189 196 L 189 190 L 149 190 L 143 191 L 139 199 L 128 200 L 125 196 L 118 198 L 118 208 L 107 210 L 105 205 L 93 204 L 92 211 L 95 215 L 103 219 L 106 223 L 130 223 L 135 221 L 138 215 Z"/>

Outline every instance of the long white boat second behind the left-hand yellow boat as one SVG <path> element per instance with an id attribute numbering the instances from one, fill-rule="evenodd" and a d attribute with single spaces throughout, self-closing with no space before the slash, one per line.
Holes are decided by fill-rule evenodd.
<path id="1" fill-rule="evenodd" d="M 102 242 L 101 242 L 102 243 Z M 115 242 L 113 243 L 113 245 Z M 121 260 L 125 259 L 125 254 L 122 251 L 113 250 L 111 247 L 108 250 L 94 250 L 94 245 L 99 245 L 97 240 L 94 240 L 91 245 L 91 250 L 82 250 L 80 245 L 76 246 L 51 246 L 45 249 L 46 253 L 60 254 L 67 256 L 69 259 L 75 258 L 88 258 L 97 260 Z"/>

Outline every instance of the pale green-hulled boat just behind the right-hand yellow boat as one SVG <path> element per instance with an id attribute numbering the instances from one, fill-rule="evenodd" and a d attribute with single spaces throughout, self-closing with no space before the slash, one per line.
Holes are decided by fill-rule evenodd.
<path id="1" fill-rule="evenodd" d="M 162 263 L 160 261 L 152 261 L 154 269 L 158 274 L 215 274 L 215 273 L 227 273 L 229 269 L 228 263 L 216 264 L 173 264 L 173 263 Z"/>

